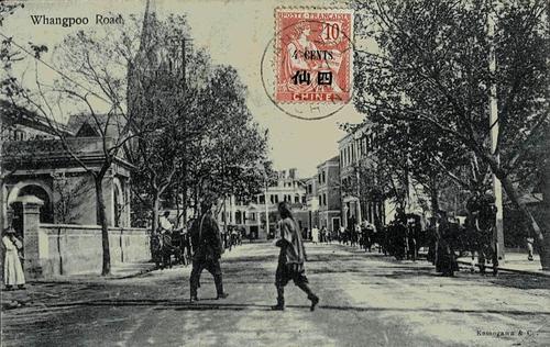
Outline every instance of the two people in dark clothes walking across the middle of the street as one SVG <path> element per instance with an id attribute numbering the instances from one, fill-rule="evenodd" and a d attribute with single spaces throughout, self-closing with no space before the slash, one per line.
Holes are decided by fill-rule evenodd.
<path id="1" fill-rule="evenodd" d="M 277 303 L 272 310 L 285 309 L 285 287 L 289 281 L 301 289 L 310 301 L 310 310 L 314 311 L 319 303 L 317 296 L 309 287 L 306 277 L 305 261 L 307 260 L 304 240 L 296 220 L 286 202 L 278 204 L 280 220 L 277 223 L 279 237 L 275 245 L 279 247 L 277 270 L 275 271 L 275 287 L 277 291 Z M 193 245 L 193 270 L 189 278 L 190 301 L 198 301 L 198 289 L 201 272 L 206 269 L 213 277 L 217 296 L 228 298 L 223 288 L 222 271 L 220 266 L 221 255 L 224 253 L 222 236 L 218 223 L 212 214 L 212 202 L 204 201 L 200 208 L 200 216 L 196 219 L 190 228 Z"/>

